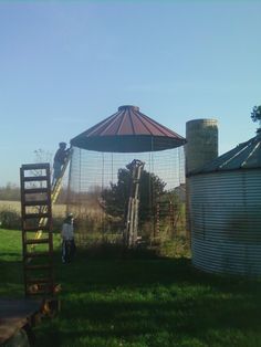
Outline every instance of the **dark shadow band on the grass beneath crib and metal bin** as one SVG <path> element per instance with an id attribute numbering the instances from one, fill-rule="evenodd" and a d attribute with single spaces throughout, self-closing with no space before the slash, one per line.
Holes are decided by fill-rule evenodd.
<path id="1" fill-rule="evenodd" d="M 84 287 L 115 285 L 146 286 L 152 283 L 211 285 L 217 290 L 249 293 L 261 290 L 260 280 L 242 276 L 209 274 L 196 270 L 188 257 L 158 256 L 154 250 L 121 250 L 116 248 L 77 251 L 75 260 L 62 265 L 55 253 L 59 277 L 71 288 L 79 283 Z M 71 281 L 72 280 L 72 281 Z"/>

